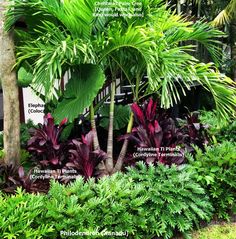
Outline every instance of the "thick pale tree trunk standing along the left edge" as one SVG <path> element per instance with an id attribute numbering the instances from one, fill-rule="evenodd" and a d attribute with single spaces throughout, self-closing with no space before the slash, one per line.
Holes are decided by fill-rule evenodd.
<path id="1" fill-rule="evenodd" d="M 4 31 L 4 12 L 7 1 L 0 0 L 0 78 L 3 90 L 4 162 L 20 161 L 20 111 L 16 80 L 14 41 L 12 32 Z"/>

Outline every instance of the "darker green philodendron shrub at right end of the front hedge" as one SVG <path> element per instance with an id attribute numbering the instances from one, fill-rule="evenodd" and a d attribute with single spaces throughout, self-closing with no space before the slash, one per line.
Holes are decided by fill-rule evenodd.
<path id="1" fill-rule="evenodd" d="M 175 165 L 137 166 L 138 169 L 129 168 L 127 176 L 146 191 L 143 209 L 149 217 L 145 238 L 147 235 L 171 238 L 176 231 L 186 233 L 200 220 L 211 219 L 213 208 L 191 172 Z"/>

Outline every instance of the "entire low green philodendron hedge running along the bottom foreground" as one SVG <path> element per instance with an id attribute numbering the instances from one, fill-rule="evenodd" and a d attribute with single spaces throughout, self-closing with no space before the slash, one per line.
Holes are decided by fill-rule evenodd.
<path id="1" fill-rule="evenodd" d="M 47 195 L 18 189 L 0 197 L 0 235 L 55 239 L 67 238 L 60 231 L 127 231 L 128 238 L 171 238 L 212 216 L 208 197 L 192 176 L 186 168 L 139 163 L 97 183 L 82 177 L 69 186 L 52 182 Z"/>

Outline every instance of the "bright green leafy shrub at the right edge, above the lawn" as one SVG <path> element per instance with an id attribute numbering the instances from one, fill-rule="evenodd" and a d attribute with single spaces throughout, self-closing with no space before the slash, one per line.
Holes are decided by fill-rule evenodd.
<path id="1" fill-rule="evenodd" d="M 210 196 L 219 218 L 229 219 L 229 214 L 236 200 L 236 144 L 223 142 L 208 146 L 205 152 L 196 148 L 189 162 L 196 174 L 197 181 Z"/>

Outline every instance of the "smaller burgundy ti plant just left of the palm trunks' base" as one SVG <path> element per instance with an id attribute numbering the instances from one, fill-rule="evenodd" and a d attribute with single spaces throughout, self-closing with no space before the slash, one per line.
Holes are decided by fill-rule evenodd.
<path id="1" fill-rule="evenodd" d="M 102 150 L 93 150 L 93 133 L 90 131 L 81 140 L 73 139 L 69 150 L 67 167 L 78 170 L 85 179 L 92 177 L 98 164 L 107 158 Z"/>

